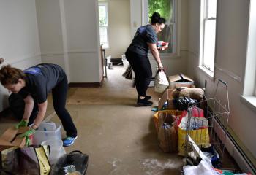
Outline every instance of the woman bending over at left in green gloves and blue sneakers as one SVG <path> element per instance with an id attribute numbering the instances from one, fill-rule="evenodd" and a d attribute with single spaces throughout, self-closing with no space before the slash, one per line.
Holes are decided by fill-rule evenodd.
<path id="1" fill-rule="evenodd" d="M 12 93 L 19 93 L 25 101 L 23 119 L 16 125 L 16 128 L 28 124 L 34 105 L 38 105 L 39 112 L 34 119 L 31 130 L 26 134 L 34 133 L 34 130 L 38 128 L 45 117 L 47 96 L 51 91 L 54 109 L 67 133 L 67 137 L 63 139 L 63 146 L 72 145 L 75 139 L 78 138 L 77 129 L 65 108 L 68 85 L 67 76 L 61 66 L 42 63 L 25 71 L 10 65 L 2 66 L 0 81 L 4 88 Z M 27 136 L 26 134 L 25 136 Z"/>

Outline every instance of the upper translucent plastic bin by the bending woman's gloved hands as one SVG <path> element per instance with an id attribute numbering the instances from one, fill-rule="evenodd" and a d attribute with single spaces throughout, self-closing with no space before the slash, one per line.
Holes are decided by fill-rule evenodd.
<path id="1" fill-rule="evenodd" d="M 61 140 L 61 124 L 41 123 L 34 133 L 33 144 L 39 145 L 50 139 Z"/>

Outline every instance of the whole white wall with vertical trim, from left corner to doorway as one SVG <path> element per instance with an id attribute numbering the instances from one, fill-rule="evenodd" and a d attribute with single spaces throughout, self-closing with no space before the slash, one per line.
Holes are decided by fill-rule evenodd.
<path id="1" fill-rule="evenodd" d="M 95 0 L 37 0 L 42 61 L 58 63 L 69 82 L 100 82 L 98 7 Z"/>

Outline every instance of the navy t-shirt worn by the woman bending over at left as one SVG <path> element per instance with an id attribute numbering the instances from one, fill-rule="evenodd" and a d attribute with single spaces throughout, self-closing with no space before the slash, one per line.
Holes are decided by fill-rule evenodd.
<path id="1" fill-rule="evenodd" d="M 26 86 L 19 91 L 19 94 L 26 98 L 29 94 L 42 104 L 47 100 L 48 93 L 65 76 L 61 66 L 50 63 L 42 63 L 24 70 L 26 74 Z"/>

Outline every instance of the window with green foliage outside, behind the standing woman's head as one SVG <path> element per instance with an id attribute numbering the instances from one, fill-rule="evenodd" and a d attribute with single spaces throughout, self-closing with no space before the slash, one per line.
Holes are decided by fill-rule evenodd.
<path id="1" fill-rule="evenodd" d="M 160 53 L 175 53 L 176 52 L 176 0 L 148 0 L 146 1 L 146 21 L 150 23 L 150 18 L 154 12 L 165 18 L 165 28 L 157 34 L 159 41 L 169 42 L 169 47 Z"/>

